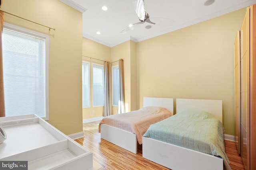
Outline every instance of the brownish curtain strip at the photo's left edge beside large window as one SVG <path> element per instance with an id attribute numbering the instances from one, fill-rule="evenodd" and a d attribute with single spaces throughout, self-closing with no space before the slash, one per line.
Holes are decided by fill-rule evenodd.
<path id="1" fill-rule="evenodd" d="M 2 3 L 1 3 L 2 4 Z M 3 76 L 3 53 L 2 53 L 2 31 L 4 23 L 4 12 L 0 11 L 0 117 L 5 116 L 4 108 L 4 76 Z"/>

